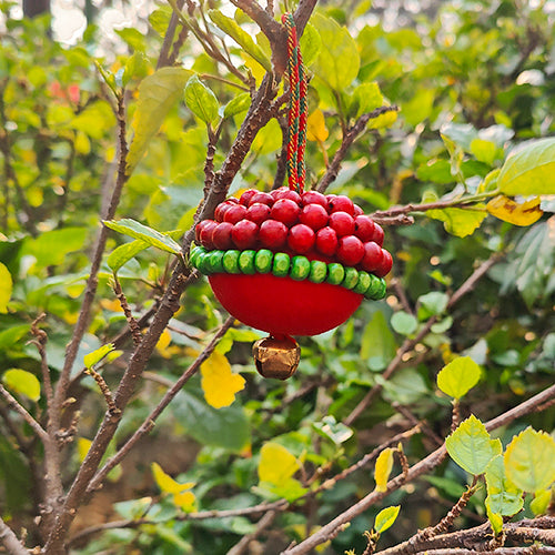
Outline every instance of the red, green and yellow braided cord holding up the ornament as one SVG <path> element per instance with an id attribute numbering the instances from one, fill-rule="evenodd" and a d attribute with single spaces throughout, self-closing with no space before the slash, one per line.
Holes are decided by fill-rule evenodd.
<path id="1" fill-rule="evenodd" d="M 306 145 L 306 78 L 293 16 L 284 13 L 282 22 L 287 30 L 287 77 L 290 89 L 287 117 L 287 182 L 289 188 L 302 193 L 305 181 L 304 150 Z"/>

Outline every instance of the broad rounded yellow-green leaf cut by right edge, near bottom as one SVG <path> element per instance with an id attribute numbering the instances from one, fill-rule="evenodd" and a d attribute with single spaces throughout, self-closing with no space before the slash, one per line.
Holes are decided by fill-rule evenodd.
<path id="1" fill-rule="evenodd" d="M 527 427 L 507 445 L 505 472 L 525 492 L 546 490 L 555 482 L 555 440 Z"/>

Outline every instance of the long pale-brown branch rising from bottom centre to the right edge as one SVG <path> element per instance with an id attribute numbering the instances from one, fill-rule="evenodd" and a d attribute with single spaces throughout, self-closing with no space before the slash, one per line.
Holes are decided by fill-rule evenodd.
<path id="1" fill-rule="evenodd" d="M 537 405 L 545 403 L 546 401 L 555 397 L 555 385 L 547 387 L 546 390 L 537 393 L 533 397 L 527 401 L 522 402 L 511 411 L 507 411 L 496 418 L 493 418 L 485 423 L 485 427 L 488 432 L 496 430 L 501 426 L 504 426 L 514 420 L 524 416 L 526 414 L 533 413 L 536 411 Z M 427 457 L 414 464 L 405 478 L 403 474 L 395 476 L 387 483 L 387 487 L 385 492 L 372 492 L 363 497 L 360 502 L 355 503 L 353 506 L 347 508 L 344 513 L 336 516 L 333 521 L 329 522 L 324 526 L 322 526 L 316 533 L 312 536 L 307 537 L 305 541 L 301 542 L 299 545 L 287 548 L 282 552 L 283 555 L 301 555 L 304 553 L 309 553 L 311 549 L 316 547 L 317 545 L 326 542 L 333 534 L 336 534 L 339 527 L 344 526 L 346 523 L 350 523 L 355 516 L 359 516 L 364 511 L 367 511 L 371 506 L 375 505 L 377 502 L 382 501 L 390 493 L 398 490 L 405 482 L 412 482 L 416 477 L 422 474 L 431 472 L 433 468 L 438 466 L 442 461 L 445 458 L 447 451 L 445 445 L 438 447 L 433 453 L 431 453 Z M 555 523 L 555 518 L 552 518 Z M 522 524 L 521 524 L 522 526 Z"/>

